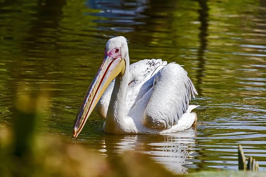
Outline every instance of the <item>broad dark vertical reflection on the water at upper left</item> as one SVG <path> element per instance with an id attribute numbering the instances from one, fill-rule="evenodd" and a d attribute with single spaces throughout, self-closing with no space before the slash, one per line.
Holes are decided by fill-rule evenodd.
<path id="1" fill-rule="evenodd" d="M 27 73 L 28 77 L 36 78 L 37 76 L 44 76 L 47 72 L 54 72 L 57 75 L 54 80 L 60 80 L 63 76 L 59 72 L 59 63 L 62 58 L 60 55 L 60 22 L 63 15 L 63 7 L 66 5 L 66 0 L 42 0 L 37 2 L 36 14 L 32 15 L 34 18 L 29 23 L 28 35 L 23 40 L 24 60 L 28 60 L 28 65 L 34 67 L 36 72 Z M 43 57 L 45 56 L 45 57 Z M 31 60 L 38 59 L 38 63 L 31 63 Z M 58 66 L 50 69 L 51 66 Z M 26 67 L 27 64 L 26 64 Z M 25 76 L 21 76 L 23 78 Z M 19 78 L 20 80 L 22 80 Z M 23 80 L 22 80 L 23 81 Z M 39 80 L 40 83 L 45 83 Z M 50 83 L 47 87 L 50 87 Z M 37 87 L 38 89 L 38 87 Z M 55 90 L 54 94 L 58 92 Z M 54 109 L 50 107 L 50 109 Z"/>

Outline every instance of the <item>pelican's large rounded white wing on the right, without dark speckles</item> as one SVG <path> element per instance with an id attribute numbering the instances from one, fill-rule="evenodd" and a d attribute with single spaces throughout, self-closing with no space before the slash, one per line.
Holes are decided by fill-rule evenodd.
<path id="1" fill-rule="evenodd" d="M 154 91 L 144 111 L 144 122 L 151 128 L 168 128 L 177 124 L 187 111 L 196 88 L 180 65 L 169 63 L 154 78 Z"/>

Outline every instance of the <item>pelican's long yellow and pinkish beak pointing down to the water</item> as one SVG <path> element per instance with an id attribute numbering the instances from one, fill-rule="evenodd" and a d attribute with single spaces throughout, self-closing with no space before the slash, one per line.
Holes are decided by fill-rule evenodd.
<path id="1" fill-rule="evenodd" d="M 82 104 L 80 105 L 79 112 L 76 116 L 73 136 L 76 138 L 82 130 L 85 122 L 87 121 L 92 110 L 101 98 L 105 89 L 109 86 L 113 79 L 119 74 L 125 72 L 125 60 L 122 58 L 113 59 L 112 56 L 106 55 L 99 68 L 96 76 L 90 84 Z"/>

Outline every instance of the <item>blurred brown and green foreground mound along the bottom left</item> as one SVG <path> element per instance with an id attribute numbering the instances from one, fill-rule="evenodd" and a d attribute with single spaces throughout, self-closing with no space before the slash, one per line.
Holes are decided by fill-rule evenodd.
<path id="1" fill-rule="evenodd" d="M 10 153 L 10 144 L 2 146 L 0 176 L 175 176 L 141 153 L 104 158 L 58 137 L 41 135 L 37 135 L 34 146 L 31 156 L 23 158 Z"/>

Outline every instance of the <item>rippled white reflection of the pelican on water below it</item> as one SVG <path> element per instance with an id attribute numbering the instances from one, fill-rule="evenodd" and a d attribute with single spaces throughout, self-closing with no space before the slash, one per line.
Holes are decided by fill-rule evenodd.
<path id="1" fill-rule="evenodd" d="M 99 151 L 104 155 L 122 154 L 124 151 L 147 153 L 156 162 L 175 173 L 186 174 L 184 164 L 193 158 L 191 144 L 195 144 L 195 130 L 192 128 L 171 134 L 160 135 L 110 135 L 102 137 Z"/>

